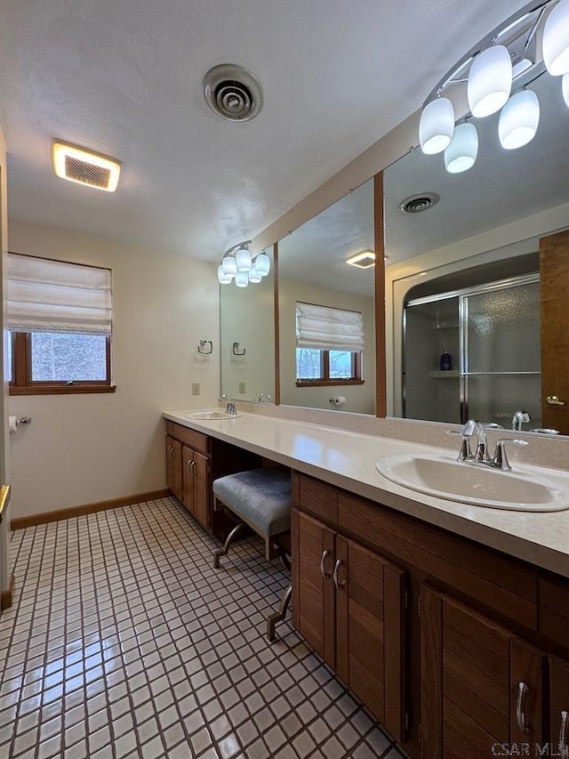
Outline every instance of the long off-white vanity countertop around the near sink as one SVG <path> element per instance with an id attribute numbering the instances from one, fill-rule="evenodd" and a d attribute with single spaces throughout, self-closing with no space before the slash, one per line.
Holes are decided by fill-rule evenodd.
<path id="1" fill-rule="evenodd" d="M 399 486 L 375 468 L 384 456 L 432 454 L 439 448 L 259 414 L 215 421 L 189 419 L 187 414 L 172 411 L 163 416 L 569 577 L 569 511 L 527 513 L 458 504 Z M 548 470 L 541 472 L 547 475 Z"/>

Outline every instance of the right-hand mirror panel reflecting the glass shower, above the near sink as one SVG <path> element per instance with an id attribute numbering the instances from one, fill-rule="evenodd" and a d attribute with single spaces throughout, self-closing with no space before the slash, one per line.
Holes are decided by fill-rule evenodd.
<path id="1" fill-rule="evenodd" d="M 557 77 L 531 89 L 525 147 L 501 148 L 496 114 L 469 171 L 415 149 L 384 172 L 389 416 L 511 429 L 522 410 L 521 429 L 569 433 L 569 236 L 549 237 L 569 227 L 569 109 Z"/>

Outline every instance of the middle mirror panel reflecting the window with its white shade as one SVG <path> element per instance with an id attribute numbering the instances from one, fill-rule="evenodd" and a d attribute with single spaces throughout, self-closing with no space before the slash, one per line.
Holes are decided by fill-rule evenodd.
<path id="1" fill-rule="evenodd" d="M 347 263 L 356 254 L 374 252 L 373 214 L 372 179 L 278 242 L 281 404 L 375 414 L 375 269 Z M 317 340 L 307 338 L 309 347 L 299 343 L 299 308 L 313 306 L 321 309 L 315 321 L 318 314 L 345 319 L 346 332 L 361 318 L 363 350 L 340 346 L 326 356 Z"/>

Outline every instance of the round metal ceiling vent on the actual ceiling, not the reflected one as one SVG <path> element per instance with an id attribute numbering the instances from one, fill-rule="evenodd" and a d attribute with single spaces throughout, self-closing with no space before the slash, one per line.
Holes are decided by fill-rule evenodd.
<path id="1" fill-rule="evenodd" d="M 257 77 L 247 69 L 222 63 L 214 66 L 202 82 L 205 102 L 228 121 L 251 121 L 263 105 L 263 93 Z"/>

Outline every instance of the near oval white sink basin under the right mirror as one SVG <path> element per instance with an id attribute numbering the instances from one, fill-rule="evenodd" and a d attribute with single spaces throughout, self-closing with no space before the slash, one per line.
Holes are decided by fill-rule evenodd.
<path id="1" fill-rule="evenodd" d="M 445 456 L 388 456 L 376 469 L 397 485 L 462 504 L 528 512 L 569 508 L 569 477 L 525 466 L 514 472 Z"/>

